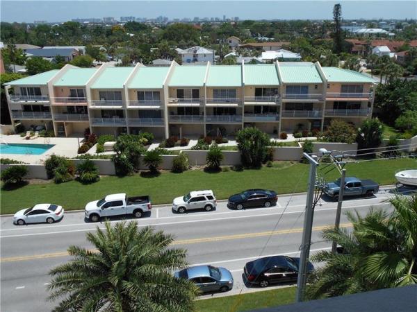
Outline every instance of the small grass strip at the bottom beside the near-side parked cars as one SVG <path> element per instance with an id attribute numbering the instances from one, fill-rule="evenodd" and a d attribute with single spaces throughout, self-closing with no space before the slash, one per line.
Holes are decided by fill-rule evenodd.
<path id="1" fill-rule="evenodd" d="M 281 306 L 295 302 L 295 287 L 278 288 L 220 298 L 198 300 L 198 312 L 235 312 Z"/>

